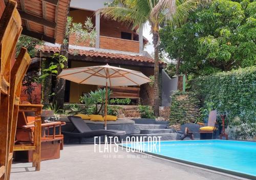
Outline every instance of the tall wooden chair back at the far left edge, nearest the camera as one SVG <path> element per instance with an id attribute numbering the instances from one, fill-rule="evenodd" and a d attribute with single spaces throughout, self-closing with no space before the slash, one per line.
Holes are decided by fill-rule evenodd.
<path id="1" fill-rule="evenodd" d="M 0 20 L 0 179 L 7 179 L 8 161 L 12 159 L 9 153 L 9 95 L 11 58 L 22 32 L 22 20 L 16 9 L 17 3 L 8 1 Z"/>

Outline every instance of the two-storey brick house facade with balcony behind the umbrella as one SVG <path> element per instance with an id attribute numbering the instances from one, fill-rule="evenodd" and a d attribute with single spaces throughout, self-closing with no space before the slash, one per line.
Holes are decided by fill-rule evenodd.
<path id="1" fill-rule="evenodd" d="M 74 36 L 69 38 L 68 68 L 79 68 L 94 65 L 119 66 L 121 68 L 140 71 L 146 76 L 154 75 L 154 59 L 143 50 L 147 39 L 143 37 L 143 29 L 132 30 L 131 26 L 115 20 L 106 19 L 96 11 L 104 7 L 105 0 L 83 1 L 72 0 L 69 16 L 73 22 L 83 24 L 87 17 L 92 19 L 97 33 L 94 47 L 89 43 L 74 43 Z M 51 60 L 54 53 L 60 52 L 60 44 L 45 43 L 38 47 L 37 59 Z M 166 64 L 159 62 L 161 73 Z M 54 87 L 54 79 L 52 86 Z M 77 84 L 66 81 L 65 102 L 78 103 L 80 96 L 95 91 L 96 85 Z M 53 89 L 52 89 L 53 92 Z M 111 98 L 130 98 L 133 104 L 154 104 L 153 87 L 146 83 L 141 86 L 112 87 Z"/>

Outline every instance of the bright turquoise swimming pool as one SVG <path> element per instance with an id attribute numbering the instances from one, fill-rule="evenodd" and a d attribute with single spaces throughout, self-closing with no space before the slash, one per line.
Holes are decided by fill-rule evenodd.
<path id="1" fill-rule="evenodd" d="M 133 144 L 123 144 L 123 146 L 136 149 Z M 255 142 L 226 140 L 162 141 L 156 144 L 157 151 L 155 152 L 151 146 L 152 144 L 145 143 L 145 153 L 256 179 Z"/>

